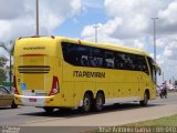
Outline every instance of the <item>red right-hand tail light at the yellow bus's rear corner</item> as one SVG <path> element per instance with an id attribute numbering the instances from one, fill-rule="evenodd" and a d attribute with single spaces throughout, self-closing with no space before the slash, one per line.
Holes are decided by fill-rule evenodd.
<path id="1" fill-rule="evenodd" d="M 59 92 L 60 92 L 59 91 L 59 80 L 56 76 L 53 76 L 52 90 L 49 93 L 49 95 L 54 95 L 54 94 L 58 94 Z"/>

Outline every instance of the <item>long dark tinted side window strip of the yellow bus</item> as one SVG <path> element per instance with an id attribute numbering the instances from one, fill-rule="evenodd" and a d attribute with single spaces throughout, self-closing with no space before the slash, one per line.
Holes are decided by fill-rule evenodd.
<path id="1" fill-rule="evenodd" d="M 148 73 L 145 57 L 66 42 L 62 43 L 62 50 L 64 60 L 73 65 Z"/>

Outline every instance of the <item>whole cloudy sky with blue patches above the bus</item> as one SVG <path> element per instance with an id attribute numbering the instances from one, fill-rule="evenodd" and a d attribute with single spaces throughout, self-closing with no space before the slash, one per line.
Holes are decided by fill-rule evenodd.
<path id="1" fill-rule="evenodd" d="M 40 35 L 62 35 L 143 49 L 165 80 L 177 80 L 177 0 L 39 0 Z M 0 42 L 35 34 L 35 0 L 0 0 Z M 0 55 L 7 53 L 0 49 Z M 163 78 L 159 76 L 159 81 Z"/>

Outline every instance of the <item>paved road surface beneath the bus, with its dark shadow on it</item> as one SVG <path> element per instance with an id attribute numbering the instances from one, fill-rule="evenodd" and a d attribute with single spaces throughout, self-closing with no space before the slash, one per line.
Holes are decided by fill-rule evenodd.
<path id="1" fill-rule="evenodd" d="M 19 106 L 11 110 L 0 108 L 0 125 L 15 126 L 113 126 L 137 121 L 157 119 L 177 113 L 177 93 L 168 94 L 168 99 L 149 101 L 148 106 L 142 108 L 137 103 L 108 105 L 100 112 L 82 114 L 72 111 L 61 113 L 55 110 L 46 114 L 43 109 Z"/>

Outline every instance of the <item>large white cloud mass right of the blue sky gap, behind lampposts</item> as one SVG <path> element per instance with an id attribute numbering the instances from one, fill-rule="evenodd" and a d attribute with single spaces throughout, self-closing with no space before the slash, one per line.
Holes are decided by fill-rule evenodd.
<path id="1" fill-rule="evenodd" d="M 98 28 L 100 42 L 121 42 L 123 45 L 144 49 L 153 55 L 153 28 L 152 18 L 156 17 L 156 45 L 157 62 L 166 73 L 177 75 L 177 70 L 171 73 L 170 64 L 177 59 L 177 1 L 174 0 L 104 0 L 104 10 L 107 22 Z M 96 23 L 86 25 L 82 38 L 94 41 Z M 174 61 L 174 62 L 173 62 Z M 169 63 L 168 65 L 166 63 Z M 175 69 L 175 68 L 174 68 Z M 168 74 L 168 75 L 170 75 Z"/>

